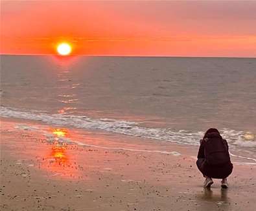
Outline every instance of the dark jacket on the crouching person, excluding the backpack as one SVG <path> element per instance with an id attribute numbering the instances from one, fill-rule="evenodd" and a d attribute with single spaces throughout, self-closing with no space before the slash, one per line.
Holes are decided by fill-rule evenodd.
<path id="1" fill-rule="evenodd" d="M 215 137 L 215 138 L 218 137 L 222 139 L 220 134 L 212 133 L 212 134 L 208 134 L 205 139 L 200 140 L 200 148 L 198 150 L 198 156 L 197 156 L 198 161 L 196 161 L 196 165 L 198 166 L 198 169 L 200 170 L 200 172 L 202 172 L 204 176 L 216 178 L 216 179 L 223 179 L 231 174 L 233 170 L 233 165 L 231 161 L 229 161 L 228 163 L 225 163 L 222 166 L 213 166 L 213 165 L 209 165 L 206 162 L 205 143 L 207 139 L 211 139 L 212 137 Z M 224 144 L 226 145 L 228 150 L 227 141 L 225 139 L 222 139 L 222 141 L 224 141 Z"/>

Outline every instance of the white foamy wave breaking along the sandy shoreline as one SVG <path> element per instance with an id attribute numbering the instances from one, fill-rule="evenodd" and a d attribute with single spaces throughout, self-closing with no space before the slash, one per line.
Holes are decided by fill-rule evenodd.
<path id="1" fill-rule="evenodd" d="M 71 126 L 88 130 L 104 130 L 128 136 L 144 137 L 159 141 L 170 141 L 185 145 L 199 145 L 204 132 L 190 132 L 187 130 L 173 130 L 172 128 L 148 128 L 133 121 L 119 121 L 115 119 L 93 119 L 87 116 L 75 116 L 64 114 L 47 114 L 40 111 L 25 111 L 15 108 L 0 107 L 0 116 L 14 117 L 42 121 L 49 125 Z M 248 141 L 245 132 L 224 128 L 220 131 L 222 136 L 229 141 L 230 145 L 242 147 L 256 147 L 253 139 Z"/>

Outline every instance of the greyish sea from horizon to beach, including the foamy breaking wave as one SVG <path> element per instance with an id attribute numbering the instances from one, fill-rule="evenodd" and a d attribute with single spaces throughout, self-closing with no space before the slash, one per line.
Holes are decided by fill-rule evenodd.
<path id="1" fill-rule="evenodd" d="M 256 162 L 256 59 L 1 55 L 0 116 L 199 145 Z M 143 140 L 143 139 L 141 139 Z"/>

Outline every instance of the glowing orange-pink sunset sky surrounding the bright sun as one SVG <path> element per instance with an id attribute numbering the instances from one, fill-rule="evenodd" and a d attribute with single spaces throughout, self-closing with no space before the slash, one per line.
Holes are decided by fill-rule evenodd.
<path id="1" fill-rule="evenodd" d="M 256 1 L 1 1 L 1 54 L 256 57 Z"/>

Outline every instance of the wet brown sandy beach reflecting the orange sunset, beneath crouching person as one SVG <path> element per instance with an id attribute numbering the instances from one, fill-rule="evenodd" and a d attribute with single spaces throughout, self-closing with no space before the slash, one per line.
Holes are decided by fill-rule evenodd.
<path id="1" fill-rule="evenodd" d="M 1 118 L 1 210 L 254 210 L 256 165 L 204 190 L 197 150 Z"/>

